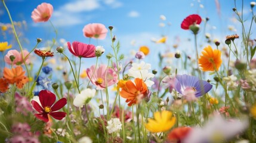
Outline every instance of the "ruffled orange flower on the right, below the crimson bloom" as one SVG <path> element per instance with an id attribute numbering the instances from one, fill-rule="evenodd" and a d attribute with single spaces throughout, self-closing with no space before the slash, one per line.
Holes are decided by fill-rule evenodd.
<path id="1" fill-rule="evenodd" d="M 202 55 L 198 59 L 198 64 L 203 71 L 214 71 L 220 68 L 221 51 L 218 49 L 212 49 L 211 46 L 207 46 L 203 49 Z"/>

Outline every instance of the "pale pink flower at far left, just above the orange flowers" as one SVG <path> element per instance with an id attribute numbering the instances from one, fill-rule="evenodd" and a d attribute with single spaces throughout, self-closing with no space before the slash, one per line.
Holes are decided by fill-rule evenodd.
<path id="1" fill-rule="evenodd" d="M 24 58 L 29 54 L 28 51 L 23 50 L 23 55 Z M 4 57 L 4 60 L 7 64 L 11 64 L 11 60 L 10 60 L 10 55 L 14 55 L 15 59 L 13 60 L 13 64 L 14 65 L 20 65 L 23 64 L 23 59 L 22 59 L 22 55 L 21 52 L 18 52 L 16 49 L 11 49 L 10 51 L 7 52 L 7 54 Z M 27 56 L 27 58 L 25 59 L 26 63 L 29 63 L 29 56 Z"/>

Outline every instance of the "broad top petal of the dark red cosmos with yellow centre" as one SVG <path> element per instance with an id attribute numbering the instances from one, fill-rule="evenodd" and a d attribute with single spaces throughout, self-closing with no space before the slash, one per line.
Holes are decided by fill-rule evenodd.
<path id="1" fill-rule="evenodd" d="M 51 91 L 42 90 L 39 92 L 39 100 L 43 108 L 51 107 L 56 101 L 56 97 Z"/>

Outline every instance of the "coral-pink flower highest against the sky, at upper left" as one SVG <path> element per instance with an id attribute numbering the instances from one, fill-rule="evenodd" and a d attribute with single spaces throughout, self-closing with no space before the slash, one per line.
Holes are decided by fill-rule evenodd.
<path id="1" fill-rule="evenodd" d="M 53 14 L 53 5 L 43 2 L 32 11 L 31 18 L 35 23 L 46 22 Z"/>

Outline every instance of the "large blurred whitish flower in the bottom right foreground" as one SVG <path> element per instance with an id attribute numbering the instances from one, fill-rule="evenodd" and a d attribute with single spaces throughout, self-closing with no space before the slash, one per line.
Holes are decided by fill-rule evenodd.
<path id="1" fill-rule="evenodd" d="M 248 120 L 225 120 L 223 117 L 215 115 L 212 120 L 203 128 L 193 128 L 184 139 L 184 143 L 222 142 L 243 132 L 248 127 Z"/>

